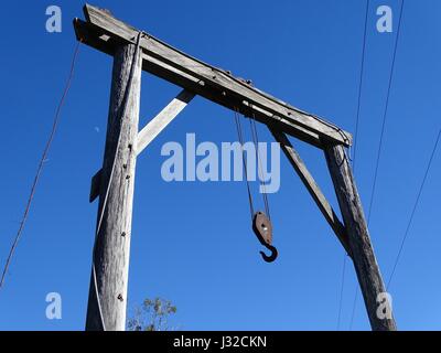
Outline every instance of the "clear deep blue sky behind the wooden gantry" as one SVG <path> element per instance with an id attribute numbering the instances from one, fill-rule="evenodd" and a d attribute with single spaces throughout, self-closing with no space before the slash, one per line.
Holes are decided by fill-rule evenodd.
<path id="1" fill-rule="evenodd" d="M 45 31 L 45 9 L 63 10 L 63 32 Z M 76 45 L 72 19 L 82 1 L 2 6 L 2 172 L 0 263 L 22 216 L 39 158 Z M 98 1 L 101 8 L 213 65 L 354 131 L 365 1 Z M 396 34 L 376 31 L 372 1 L 356 178 L 367 208 Z M 390 95 L 370 233 L 385 279 L 391 272 L 419 183 L 441 127 L 441 3 L 407 0 Z M 0 330 L 83 330 L 97 204 L 90 176 L 100 168 L 111 58 L 82 46 L 32 211 L 0 291 Z M 180 90 L 143 74 L 141 124 Z M 334 330 L 344 253 L 282 156 L 280 192 L 270 195 L 280 257 L 265 264 L 249 226 L 245 184 L 165 183 L 166 141 L 237 140 L 233 113 L 196 98 L 138 160 L 129 311 L 146 297 L 178 306 L 189 330 Z M 260 139 L 272 141 L 259 126 Z M 321 151 L 297 143 L 335 205 Z M 391 295 L 398 327 L 441 329 L 438 151 Z M 225 222 L 225 218 L 228 222 Z M 346 268 L 342 329 L 348 329 L 356 279 Z M 45 296 L 63 298 L 63 319 L 45 318 Z M 361 297 L 359 297 L 361 299 Z M 362 300 L 354 329 L 368 330 Z"/>

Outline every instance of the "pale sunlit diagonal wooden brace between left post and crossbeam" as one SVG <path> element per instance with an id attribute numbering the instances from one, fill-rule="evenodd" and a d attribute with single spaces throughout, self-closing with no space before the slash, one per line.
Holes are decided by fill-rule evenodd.
<path id="1" fill-rule="evenodd" d="M 161 110 L 150 122 L 138 133 L 136 148 L 137 156 L 186 107 L 193 99 L 194 94 L 182 90 L 164 109 Z"/>

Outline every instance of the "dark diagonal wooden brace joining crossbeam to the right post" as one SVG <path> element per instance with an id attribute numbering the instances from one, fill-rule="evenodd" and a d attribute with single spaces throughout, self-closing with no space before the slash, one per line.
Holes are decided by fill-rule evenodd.
<path id="1" fill-rule="evenodd" d="M 325 217 L 325 220 L 327 221 L 327 223 L 334 231 L 340 243 L 342 243 L 344 249 L 351 256 L 352 252 L 348 246 L 347 233 L 346 233 L 345 226 L 342 224 L 342 222 L 340 222 L 338 216 L 335 214 L 334 210 L 332 208 L 331 204 L 327 202 L 323 192 L 320 190 L 314 178 L 311 175 L 310 171 L 308 170 L 306 165 L 303 163 L 299 153 L 292 147 L 288 137 L 283 132 L 278 131 L 276 129 L 270 129 L 270 131 L 271 131 L 272 136 L 275 137 L 276 141 L 278 141 L 280 143 L 280 148 L 287 156 L 288 160 L 291 162 L 291 165 L 294 168 L 295 172 L 300 176 L 303 184 L 306 186 L 306 190 L 309 191 L 312 199 L 315 201 L 316 205 L 319 206 L 320 211 L 322 212 L 323 216 Z"/>

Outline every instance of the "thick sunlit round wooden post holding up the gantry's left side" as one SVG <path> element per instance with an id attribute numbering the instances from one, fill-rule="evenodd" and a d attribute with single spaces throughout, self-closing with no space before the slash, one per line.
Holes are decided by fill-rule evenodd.
<path id="1" fill-rule="evenodd" d="M 126 328 L 136 168 L 135 147 L 138 136 L 141 87 L 140 57 L 137 57 L 136 63 L 132 64 L 136 53 L 136 45 L 127 44 L 118 47 L 114 57 L 106 148 L 99 189 L 98 224 L 101 212 L 103 218 L 94 253 L 97 288 L 93 269 L 86 330 L 123 331 Z M 130 75 L 132 75 L 131 79 Z M 128 87 L 129 85 L 131 86 Z M 114 174 L 110 180 L 114 159 Z M 99 300 L 97 300 L 97 295 Z"/>

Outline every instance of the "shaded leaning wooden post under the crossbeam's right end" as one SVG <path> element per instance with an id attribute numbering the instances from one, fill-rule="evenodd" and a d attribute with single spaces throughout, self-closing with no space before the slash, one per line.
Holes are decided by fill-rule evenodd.
<path id="1" fill-rule="evenodd" d="M 375 258 L 362 202 L 344 148 L 340 145 L 327 146 L 324 148 L 324 153 L 347 229 L 352 258 L 370 327 L 374 331 L 395 331 L 397 327 L 394 318 L 381 319 L 377 315 L 377 296 L 386 292 L 386 289 Z"/>

